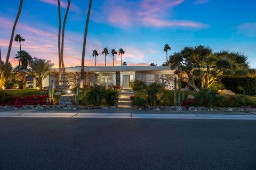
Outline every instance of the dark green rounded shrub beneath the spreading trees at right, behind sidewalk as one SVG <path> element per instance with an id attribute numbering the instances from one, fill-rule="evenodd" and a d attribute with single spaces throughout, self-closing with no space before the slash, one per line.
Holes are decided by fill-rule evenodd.
<path id="1" fill-rule="evenodd" d="M 196 93 L 195 97 L 197 106 L 217 107 L 221 105 L 222 97 L 214 90 L 202 89 Z"/>

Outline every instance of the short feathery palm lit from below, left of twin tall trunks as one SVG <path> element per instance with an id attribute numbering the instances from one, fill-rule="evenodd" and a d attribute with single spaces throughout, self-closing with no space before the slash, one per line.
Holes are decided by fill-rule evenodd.
<path id="1" fill-rule="evenodd" d="M 28 74 L 36 79 L 36 87 L 43 89 L 43 80 L 53 71 L 53 63 L 50 60 L 34 57 L 29 63 Z"/>

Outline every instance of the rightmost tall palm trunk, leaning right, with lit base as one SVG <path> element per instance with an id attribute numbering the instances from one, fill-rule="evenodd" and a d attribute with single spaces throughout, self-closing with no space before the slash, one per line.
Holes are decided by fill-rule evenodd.
<path id="1" fill-rule="evenodd" d="M 81 64 L 81 81 L 80 81 L 80 87 L 84 88 L 84 56 L 85 56 L 85 47 L 86 47 L 86 38 L 87 38 L 87 31 L 88 31 L 88 25 L 89 25 L 89 19 L 90 19 L 90 13 L 91 13 L 91 6 L 92 6 L 92 0 L 90 0 L 88 13 L 87 13 L 87 19 L 85 24 L 85 31 L 84 31 L 84 43 L 83 43 L 83 53 L 82 53 L 82 64 Z"/>

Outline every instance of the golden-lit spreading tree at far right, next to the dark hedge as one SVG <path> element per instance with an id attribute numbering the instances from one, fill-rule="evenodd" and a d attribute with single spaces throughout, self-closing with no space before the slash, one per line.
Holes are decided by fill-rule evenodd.
<path id="1" fill-rule="evenodd" d="M 244 54 L 225 50 L 203 57 L 199 66 L 204 69 L 196 69 L 194 74 L 201 78 L 201 88 L 209 88 L 223 78 L 244 78 L 252 71 Z"/>

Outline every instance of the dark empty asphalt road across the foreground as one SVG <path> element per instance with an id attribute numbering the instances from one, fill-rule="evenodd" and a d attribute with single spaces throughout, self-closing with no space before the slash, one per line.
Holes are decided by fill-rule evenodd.
<path id="1" fill-rule="evenodd" d="M 0 118 L 0 169 L 256 169 L 256 121 Z"/>

